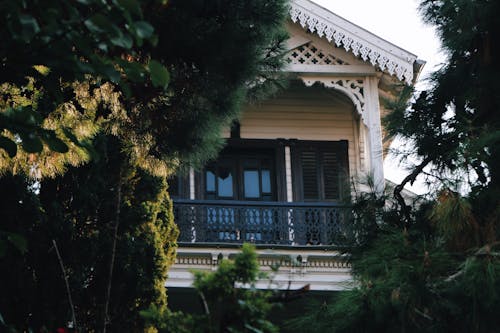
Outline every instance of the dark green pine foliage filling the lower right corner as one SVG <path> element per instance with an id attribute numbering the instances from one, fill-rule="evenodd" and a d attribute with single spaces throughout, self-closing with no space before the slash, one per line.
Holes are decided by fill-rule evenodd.
<path id="1" fill-rule="evenodd" d="M 494 331 L 500 309 L 497 246 L 457 251 L 423 207 L 407 228 L 381 223 L 350 251 L 355 281 L 349 290 L 326 304 L 311 304 L 290 325 L 319 332 Z"/>

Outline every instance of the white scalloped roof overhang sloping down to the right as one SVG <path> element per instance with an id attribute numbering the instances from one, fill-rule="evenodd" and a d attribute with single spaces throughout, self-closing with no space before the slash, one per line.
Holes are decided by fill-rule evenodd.
<path id="1" fill-rule="evenodd" d="M 292 0 L 290 18 L 373 66 L 413 84 L 423 66 L 417 56 L 309 1 Z"/>

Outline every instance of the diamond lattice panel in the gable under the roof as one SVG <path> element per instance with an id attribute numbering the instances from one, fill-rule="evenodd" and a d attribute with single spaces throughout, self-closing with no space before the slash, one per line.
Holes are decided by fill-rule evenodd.
<path id="1" fill-rule="evenodd" d="M 349 65 L 342 59 L 329 54 L 312 43 L 301 45 L 288 52 L 287 60 L 296 65 Z"/>

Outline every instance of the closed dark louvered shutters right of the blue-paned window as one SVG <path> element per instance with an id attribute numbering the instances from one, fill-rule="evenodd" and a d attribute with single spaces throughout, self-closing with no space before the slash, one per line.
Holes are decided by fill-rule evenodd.
<path id="1" fill-rule="evenodd" d="M 297 141 L 292 145 L 296 201 L 337 201 L 348 181 L 347 141 Z"/>

